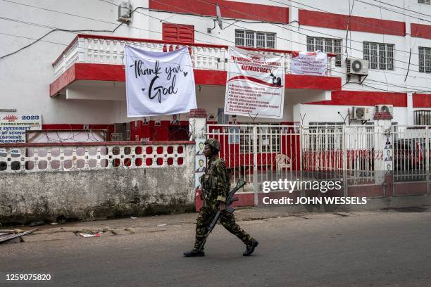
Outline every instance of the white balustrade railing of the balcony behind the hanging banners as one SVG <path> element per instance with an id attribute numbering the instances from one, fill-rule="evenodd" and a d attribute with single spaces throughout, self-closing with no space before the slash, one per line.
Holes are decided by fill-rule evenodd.
<path id="1" fill-rule="evenodd" d="M 55 78 L 60 77 L 75 63 L 123 65 L 123 51 L 126 44 L 156 52 L 173 51 L 182 46 L 189 46 L 189 53 L 195 69 L 225 71 L 227 66 L 228 46 L 78 34 L 52 64 L 54 76 Z M 293 51 L 247 47 L 243 47 L 243 49 L 263 54 L 275 53 L 282 56 L 285 59 L 286 73 L 289 74 Z M 335 54 L 328 54 L 327 76 L 331 76 L 332 70 L 335 69 L 335 56 Z"/>

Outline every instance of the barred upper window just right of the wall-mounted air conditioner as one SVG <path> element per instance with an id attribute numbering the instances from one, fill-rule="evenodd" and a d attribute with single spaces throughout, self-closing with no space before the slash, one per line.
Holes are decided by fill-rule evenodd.
<path id="1" fill-rule="evenodd" d="M 394 70 L 394 45 L 363 42 L 363 59 L 370 69 Z"/>

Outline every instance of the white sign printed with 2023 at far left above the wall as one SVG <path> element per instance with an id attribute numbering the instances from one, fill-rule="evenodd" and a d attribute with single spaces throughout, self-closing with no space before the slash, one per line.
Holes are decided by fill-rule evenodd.
<path id="1" fill-rule="evenodd" d="M 25 132 L 42 129 L 42 115 L 0 115 L 0 144 L 25 143 Z"/>

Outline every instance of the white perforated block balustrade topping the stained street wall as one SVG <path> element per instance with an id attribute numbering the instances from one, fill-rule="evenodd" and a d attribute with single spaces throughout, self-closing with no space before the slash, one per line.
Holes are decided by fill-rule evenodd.
<path id="1" fill-rule="evenodd" d="M 194 144 L 192 145 L 194 148 Z M 9 172 L 67 172 L 115 168 L 181 167 L 187 144 L 27 144 L 0 147 L 0 174 Z M 189 155 L 190 156 L 190 155 Z"/>

